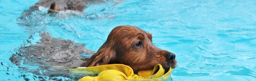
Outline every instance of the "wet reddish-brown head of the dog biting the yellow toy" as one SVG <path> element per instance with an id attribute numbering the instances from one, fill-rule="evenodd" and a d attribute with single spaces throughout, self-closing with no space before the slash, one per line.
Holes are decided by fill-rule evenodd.
<path id="1" fill-rule="evenodd" d="M 97 53 L 82 66 L 91 67 L 114 63 L 128 65 L 134 72 L 151 70 L 158 63 L 167 72 L 170 67 L 175 68 L 177 65 L 173 53 L 157 48 L 152 43 L 150 33 L 134 26 L 114 28 Z"/>

